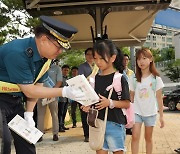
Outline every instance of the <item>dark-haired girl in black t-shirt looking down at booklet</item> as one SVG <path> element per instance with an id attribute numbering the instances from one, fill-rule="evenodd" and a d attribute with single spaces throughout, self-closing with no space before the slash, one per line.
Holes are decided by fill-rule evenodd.
<path id="1" fill-rule="evenodd" d="M 100 97 L 100 101 L 95 104 L 95 108 L 99 110 L 99 119 L 104 120 L 105 109 L 109 107 L 104 145 L 96 153 L 108 154 L 108 151 L 111 151 L 115 154 L 123 154 L 126 117 L 122 108 L 128 108 L 130 105 L 129 88 L 125 77 L 122 76 L 119 81 L 122 86 L 121 94 L 113 90 L 109 100 L 107 99 L 109 91 L 106 91 L 106 88 L 112 84 L 115 72 L 123 72 L 123 55 L 118 52 L 111 40 L 100 40 L 94 45 L 93 57 L 101 72 L 95 76 L 95 91 Z M 84 110 L 87 111 L 88 108 L 84 107 Z"/>

